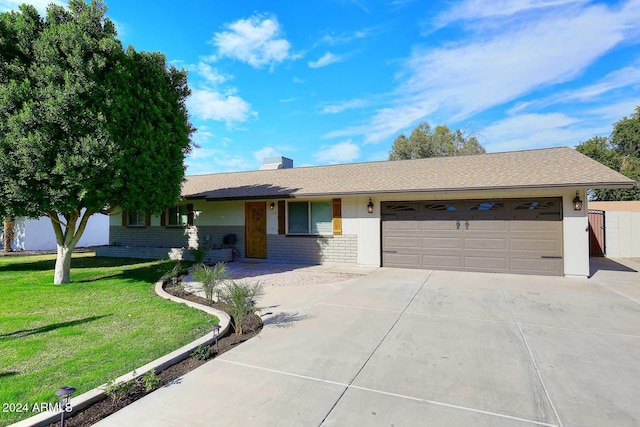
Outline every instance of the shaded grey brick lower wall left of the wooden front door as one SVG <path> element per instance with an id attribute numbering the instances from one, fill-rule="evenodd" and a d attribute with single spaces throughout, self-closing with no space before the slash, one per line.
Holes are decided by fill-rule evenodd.
<path id="1" fill-rule="evenodd" d="M 244 257 L 243 226 L 194 226 L 194 227 L 109 227 L 109 244 L 114 246 L 150 247 L 150 248 L 220 248 L 227 234 L 235 234 L 235 248 Z M 210 241 L 206 242 L 206 236 Z"/>

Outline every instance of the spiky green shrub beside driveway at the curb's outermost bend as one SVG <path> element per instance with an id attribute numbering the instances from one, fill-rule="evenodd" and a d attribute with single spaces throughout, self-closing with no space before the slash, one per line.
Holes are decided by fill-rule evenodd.
<path id="1" fill-rule="evenodd" d="M 251 315 L 261 310 L 257 299 L 264 294 L 261 283 L 228 281 L 220 292 L 220 301 L 229 307 L 233 317 L 233 329 L 236 335 L 242 335 L 242 324 Z"/>

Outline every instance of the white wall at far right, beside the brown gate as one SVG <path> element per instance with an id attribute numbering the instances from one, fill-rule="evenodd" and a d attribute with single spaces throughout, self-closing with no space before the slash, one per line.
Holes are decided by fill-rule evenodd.
<path id="1" fill-rule="evenodd" d="M 640 257 L 640 212 L 606 211 L 605 253 L 611 258 Z"/>

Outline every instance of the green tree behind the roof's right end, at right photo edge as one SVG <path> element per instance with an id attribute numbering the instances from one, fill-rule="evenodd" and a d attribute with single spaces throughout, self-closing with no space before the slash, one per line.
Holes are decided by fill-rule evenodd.
<path id="1" fill-rule="evenodd" d="M 596 136 L 581 142 L 576 150 L 633 179 L 628 189 L 600 188 L 590 191 L 593 200 L 640 200 L 640 107 L 613 125 L 609 137 Z"/>

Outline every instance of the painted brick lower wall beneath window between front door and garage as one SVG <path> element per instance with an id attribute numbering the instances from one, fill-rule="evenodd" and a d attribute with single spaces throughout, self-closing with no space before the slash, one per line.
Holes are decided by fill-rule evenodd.
<path id="1" fill-rule="evenodd" d="M 267 258 L 278 261 L 322 264 L 357 264 L 358 237 L 267 235 Z"/>

